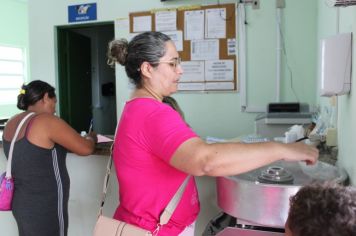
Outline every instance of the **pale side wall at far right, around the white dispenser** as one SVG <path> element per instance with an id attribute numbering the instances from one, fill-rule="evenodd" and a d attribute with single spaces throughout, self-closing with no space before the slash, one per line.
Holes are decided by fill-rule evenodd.
<path id="1" fill-rule="evenodd" d="M 338 164 L 344 167 L 350 177 L 352 185 L 356 185 L 356 6 L 334 8 L 325 4 L 324 0 L 318 1 L 318 39 L 337 33 L 353 33 L 352 48 L 352 78 L 351 93 L 337 98 L 337 130 L 338 130 Z M 322 107 L 332 107 L 330 98 L 320 98 Z"/>

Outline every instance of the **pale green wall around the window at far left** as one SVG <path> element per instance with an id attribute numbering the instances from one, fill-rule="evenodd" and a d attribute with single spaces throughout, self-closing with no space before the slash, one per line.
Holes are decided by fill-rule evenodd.
<path id="1" fill-rule="evenodd" d="M 27 1 L 0 0 L 0 6 L 0 45 L 23 47 L 28 58 Z M 0 105 L 0 117 L 9 117 L 18 111 L 16 104 Z"/>

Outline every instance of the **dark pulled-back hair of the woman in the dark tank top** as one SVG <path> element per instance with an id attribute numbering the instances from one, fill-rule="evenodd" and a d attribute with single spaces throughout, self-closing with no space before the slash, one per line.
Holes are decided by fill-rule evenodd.
<path id="1" fill-rule="evenodd" d="M 41 80 L 34 80 L 29 84 L 21 86 L 21 93 L 17 96 L 17 107 L 27 110 L 31 105 L 41 100 L 48 93 L 49 98 L 56 97 L 54 87 Z"/>

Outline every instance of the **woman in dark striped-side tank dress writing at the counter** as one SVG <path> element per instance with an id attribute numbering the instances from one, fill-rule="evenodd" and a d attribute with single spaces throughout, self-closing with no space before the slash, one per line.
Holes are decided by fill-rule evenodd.
<path id="1" fill-rule="evenodd" d="M 19 236 L 66 236 L 70 180 L 66 167 L 67 150 L 90 155 L 96 135 L 81 137 L 65 121 L 55 116 L 57 99 L 54 88 L 35 80 L 23 85 L 17 107 L 24 112 L 11 118 L 4 129 L 6 157 L 19 122 L 28 119 L 16 140 L 12 176 L 15 190 L 12 213 Z"/>

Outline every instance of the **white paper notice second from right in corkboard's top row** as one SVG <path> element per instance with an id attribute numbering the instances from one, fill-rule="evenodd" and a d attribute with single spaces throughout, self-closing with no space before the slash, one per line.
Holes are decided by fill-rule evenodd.
<path id="1" fill-rule="evenodd" d="M 204 38 L 204 10 L 184 12 L 184 39 Z"/>

